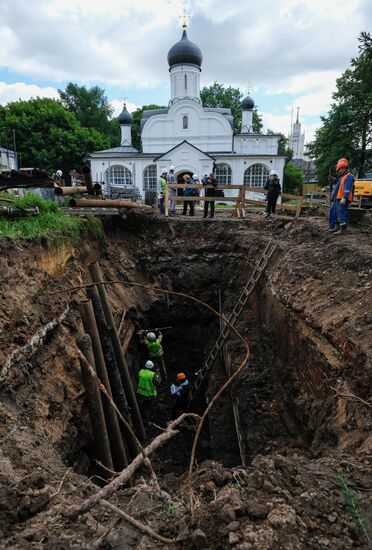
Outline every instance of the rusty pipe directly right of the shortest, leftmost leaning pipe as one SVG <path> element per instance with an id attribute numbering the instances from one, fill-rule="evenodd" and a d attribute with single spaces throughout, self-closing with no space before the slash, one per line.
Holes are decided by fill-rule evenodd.
<path id="1" fill-rule="evenodd" d="M 97 329 L 96 319 L 91 300 L 79 303 L 79 311 L 86 334 L 92 341 L 92 350 L 97 371 L 97 376 L 104 385 L 107 393 L 112 397 L 110 382 L 106 370 L 105 358 Z M 106 395 L 102 395 L 103 412 L 105 414 L 107 432 L 110 440 L 112 460 L 116 470 L 123 470 L 127 464 L 127 456 L 120 432 L 119 420 L 116 411 Z"/>

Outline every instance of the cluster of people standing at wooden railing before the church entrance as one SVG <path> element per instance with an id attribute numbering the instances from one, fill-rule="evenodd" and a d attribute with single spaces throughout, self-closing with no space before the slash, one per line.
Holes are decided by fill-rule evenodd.
<path id="1" fill-rule="evenodd" d="M 169 214 L 171 216 L 174 216 L 176 213 L 176 205 L 177 201 L 175 200 L 175 197 L 177 196 L 177 188 L 172 187 L 172 184 L 176 184 L 176 176 L 174 174 L 174 166 L 171 166 L 169 168 L 169 172 L 166 168 L 163 168 L 160 174 L 159 178 L 159 186 L 158 186 L 158 201 L 159 201 L 159 210 L 160 214 L 165 214 L 165 205 L 164 205 L 164 199 L 165 199 L 165 188 L 168 185 L 169 186 Z M 190 176 L 190 174 L 184 174 L 182 177 L 185 184 L 202 184 L 204 186 L 210 186 L 213 187 L 207 187 L 205 189 L 205 196 L 206 197 L 216 197 L 221 196 L 219 190 L 217 189 L 217 180 L 213 173 L 205 174 L 204 178 L 200 181 L 198 174 L 193 174 Z M 197 197 L 199 196 L 199 189 L 197 188 L 185 188 L 183 189 L 183 196 L 184 197 Z M 222 194 L 223 196 L 223 194 Z M 210 218 L 214 217 L 214 201 L 204 201 L 204 218 L 208 216 L 208 210 L 209 210 L 209 204 L 210 204 Z M 183 201 L 183 211 L 182 215 L 187 216 L 187 211 L 189 210 L 190 216 L 195 216 L 195 201 L 193 200 L 185 200 Z"/>

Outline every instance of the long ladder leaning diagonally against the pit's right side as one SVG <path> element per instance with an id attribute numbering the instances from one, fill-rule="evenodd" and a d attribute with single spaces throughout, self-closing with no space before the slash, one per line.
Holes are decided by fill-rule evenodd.
<path id="1" fill-rule="evenodd" d="M 243 308 L 245 304 L 248 301 L 248 298 L 252 294 L 252 291 L 254 287 L 256 286 L 257 282 L 259 281 L 262 272 L 264 271 L 268 261 L 270 260 L 271 256 L 273 255 L 274 251 L 276 249 L 276 244 L 274 243 L 268 243 L 266 245 L 266 248 L 259 259 L 256 267 L 253 270 L 252 275 L 248 279 L 246 285 L 244 286 L 238 301 L 236 302 L 234 309 L 232 310 L 232 313 L 230 314 L 228 321 L 229 323 L 234 326 L 237 319 L 240 317 L 241 312 L 243 311 Z M 210 368 L 212 367 L 214 361 L 216 360 L 218 354 L 220 353 L 223 345 L 225 344 L 229 334 L 231 332 L 231 328 L 229 325 L 225 325 L 223 329 L 221 330 L 221 333 L 219 337 L 217 338 L 216 343 L 214 344 L 213 348 L 209 352 L 209 355 L 207 359 L 205 360 L 204 365 L 199 370 L 197 378 L 195 379 L 195 382 L 190 390 L 190 402 L 194 399 L 195 395 L 198 393 L 200 386 L 204 382 Z"/>

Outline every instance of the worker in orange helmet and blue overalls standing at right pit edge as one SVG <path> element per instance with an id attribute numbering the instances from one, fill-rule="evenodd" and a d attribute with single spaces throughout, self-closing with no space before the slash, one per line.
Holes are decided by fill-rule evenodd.
<path id="1" fill-rule="evenodd" d="M 345 158 L 339 159 L 336 164 L 336 172 L 338 176 L 337 183 L 333 189 L 329 216 L 330 233 L 341 235 L 345 232 L 349 219 L 349 204 L 353 200 L 353 189 L 355 178 L 349 170 L 348 160 Z"/>

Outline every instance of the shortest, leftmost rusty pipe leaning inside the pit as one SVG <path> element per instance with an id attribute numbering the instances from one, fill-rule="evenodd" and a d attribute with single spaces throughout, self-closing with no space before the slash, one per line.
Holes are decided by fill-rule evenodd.
<path id="1" fill-rule="evenodd" d="M 84 334 L 76 340 L 82 354 L 88 363 L 94 368 L 94 357 L 92 351 L 92 343 L 90 336 Z M 103 413 L 101 394 L 98 388 L 97 379 L 89 372 L 87 364 L 80 361 L 81 374 L 83 378 L 85 395 L 89 410 L 90 421 L 92 424 L 93 437 L 95 442 L 95 450 L 100 462 L 109 468 L 113 469 L 110 443 L 106 429 L 105 416 Z M 104 472 L 107 477 L 107 472 Z"/>

